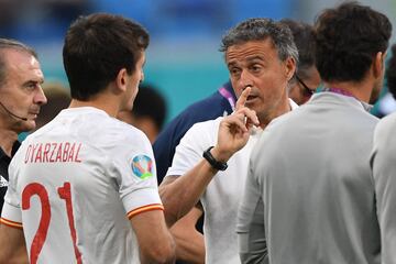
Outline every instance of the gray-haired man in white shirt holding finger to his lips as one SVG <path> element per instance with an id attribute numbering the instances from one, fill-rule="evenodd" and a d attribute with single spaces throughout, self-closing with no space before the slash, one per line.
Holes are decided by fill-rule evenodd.
<path id="1" fill-rule="evenodd" d="M 240 263 L 235 223 L 250 152 L 273 119 L 297 106 L 287 96 L 298 61 L 287 25 L 249 19 L 226 34 L 221 51 L 239 97 L 237 110 L 195 124 L 160 186 L 169 226 L 194 206 L 205 211 L 207 264 Z"/>

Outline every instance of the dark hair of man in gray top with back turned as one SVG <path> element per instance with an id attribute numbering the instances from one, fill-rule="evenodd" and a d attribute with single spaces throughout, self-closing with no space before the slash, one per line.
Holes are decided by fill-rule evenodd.
<path id="1" fill-rule="evenodd" d="M 315 29 L 316 65 L 324 81 L 361 81 L 392 33 L 386 15 L 354 1 L 324 10 Z"/>

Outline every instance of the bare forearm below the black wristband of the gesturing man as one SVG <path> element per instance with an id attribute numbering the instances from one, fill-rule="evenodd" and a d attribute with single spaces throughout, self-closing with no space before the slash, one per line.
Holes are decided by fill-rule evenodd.
<path id="1" fill-rule="evenodd" d="M 207 161 L 201 160 L 185 175 L 165 178 L 160 186 L 160 196 L 165 208 L 168 227 L 172 227 L 198 204 L 217 172 Z"/>

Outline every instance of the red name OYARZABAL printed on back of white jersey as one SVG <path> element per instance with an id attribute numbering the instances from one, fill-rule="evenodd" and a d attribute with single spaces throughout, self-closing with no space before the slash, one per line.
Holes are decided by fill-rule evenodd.
<path id="1" fill-rule="evenodd" d="M 79 142 L 45 142 L 29 144 L 24 163 L 80 163 Z"/>

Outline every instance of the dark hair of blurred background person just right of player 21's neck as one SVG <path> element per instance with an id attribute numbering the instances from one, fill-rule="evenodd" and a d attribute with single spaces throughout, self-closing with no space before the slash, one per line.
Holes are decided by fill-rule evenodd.
<path id="1" fill-rule="evenodd" d="M 151 85 L 140 85 L 138 96 L 133 102 L 132 113 L 139 119 L 151 118 L 158 131 L 162 130 L 166 118 L 165 98 Z"/>

